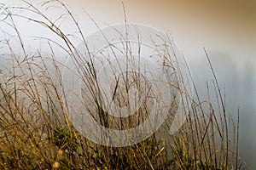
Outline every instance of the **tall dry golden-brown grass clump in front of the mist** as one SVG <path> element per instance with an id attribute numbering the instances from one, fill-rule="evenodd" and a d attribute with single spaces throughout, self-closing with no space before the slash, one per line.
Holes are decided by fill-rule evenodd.
<path id="1" fill-rule="evenodd" d="M 61 8 L 62 13 L 50 18 L 47 13 L 51 8 L 58 10 Z M 71 57 L 77 76 L 86 87 L 85 94 L 90 94 L 90 97 L 84 94 L 84 100 L 90 99 L 93 104 L 91 106 L 89 103 L 88 105 L 84 103 L 83 110 L 90 111 L 91 116 L 95 117 L 102 126 L 115 129 L 137 126 L 144 121 L 148 111 L 151 110 L 148 108 L 150 98 L 145 99 L 136 116 L 128 118 L 110 116 L 102 109 L 103 104 L 98 97 L 94 55 L 90 53 L 89 44 L 79 22 L 60 1 L 49 1 L 38 6 L 26 1 L 23 1 L 21 6 L 1 4 L 0 10 L 0 25 L 9 29 L 9 31 L 1 29 L 0 39 L 0 49 L 3 50 L 1 56 L 8 59 L 0 75 L 1 169 L 241 169 L 245 167 L 237 151 L 238 123 L 226 110 L 224 97 L 208 55 L 207 59 L 214 77 L 211 83 L 207 83 L 208 97 L 201 99 L 195 83 L 191 84 L 189 88 L 194 88 L 195 94 L 187 95 L 183 99 L 183 102 L 189 103 L 190 109 L 183 126 L 177 133 L 168 133 L 173 120 L 172 111 L 175 112 L 178 108 L 173 97 L 166 122 L 153 135 L 138 144 L 125 147 L 104 146 L 84 138 L 70 120 L 73 105 L 77 104 L 67 97 L 62 69 L 73 70 L 57 59 L 57 51 L 61 50 L 64 56 Z M 44 37 L 40 32 L 37 37 L 33 37 L 45 42 L 47 53 L 40 48 L 30 50 L 20 33 L 20 23 L 16 20 L 23 20 L 53 33 L 55 39 Z M 63 31 L 65 28 L 61 26 L 65 22 L 69 25 L 73 23 L 75 30 L 73 35 Z M 125 35 L 120 34 L 120 38 L 125 38 Z M 78 41 L 83 44 L 84 53 L 76 48 L 75 43 Z M 167 49 L 165 47 L 172 44 L 172 40 L 166 38 L 162 47 L 155 49 Z M 114 47 L 113 44 L 108 45 Z M 126 41 L 124 48 L 119 50 L 123 50 L 128 56 L 131 54 L 130 48 L 127 48 L 129 46 L 129 42 Z M 171 52 L 159 51 L 159 55 L 169 53 Z M 85 58 L 84 54 L 90 57 Z M 175 56 L 175 51 L 172 55 Z M 166 59 L 165 64 L 173 67 L 174 61 L 168 56 L 163 58 Z M 180 76 L 178 72 L 180 70 L 174 69 L 177 73 L 172 80 L 174 81 L 172 86 L 182 90 L 179 86 L 185 82 L 180 78 L 175 79 Z M 127 77 L 132 81 L 125 82 L 128 80 Z M 150 94 L 148 96 L 154 97 L 154 93 L 148 89 L 147 81 L 143 83 L 138 81 L 139 76 L 136 73 L 127 77 L 118 79 L 117 82 L 120 82 L 113 84 L 114 102 L 125 105 L 125 96 L 121 95 L 121 90 L 125 87 L 123 85 L 128 83 L 146 90 Z M 189 77 L 191 78 L 191 75 Z M 77 87 L 74 85 L 74 88 Z"/>

